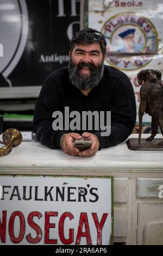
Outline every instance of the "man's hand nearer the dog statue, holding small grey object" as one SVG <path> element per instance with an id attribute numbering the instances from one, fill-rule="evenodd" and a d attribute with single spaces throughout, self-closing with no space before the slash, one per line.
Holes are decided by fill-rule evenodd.
<path id="1" fill-rule="evenodd" d="M 93 156 L 96 154 L 96 152 L 99 149 L 99 139 L 96 135 L 90 133 L 90 132 L 84 132 L 82 134 L 82 137 L 85 141 L 92 141 L 92 145 L 89 149 L 86 149 L 84 151 L 80 151 L 78 153 L 79 156 Z"/>

